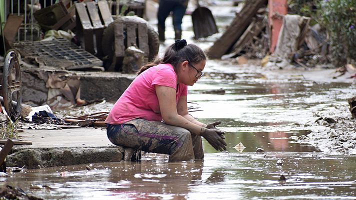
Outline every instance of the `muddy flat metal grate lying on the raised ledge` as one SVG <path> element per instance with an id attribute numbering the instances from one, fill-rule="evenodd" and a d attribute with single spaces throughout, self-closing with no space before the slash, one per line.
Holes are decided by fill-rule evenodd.
<path id="1" fill-rule="evenodd" d="M 65 69 L 102 66 L 102 61 L 71 41 L 57 38 L 47 41 L 22 41 L 13 44 L 23 57 L 36 57 L 48 66 Z"/>

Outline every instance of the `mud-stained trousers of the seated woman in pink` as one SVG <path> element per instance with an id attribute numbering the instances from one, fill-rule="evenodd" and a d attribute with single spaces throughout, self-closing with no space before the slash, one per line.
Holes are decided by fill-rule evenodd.
<path id="1" fill-rule="evenodd" d="M 122 124 L 107 124 L 106 133 L 115 145 L 169 154 L 169 161 L 191 161 L 204 157 L 201 136 L 160 121 L 132 119 Z"/>

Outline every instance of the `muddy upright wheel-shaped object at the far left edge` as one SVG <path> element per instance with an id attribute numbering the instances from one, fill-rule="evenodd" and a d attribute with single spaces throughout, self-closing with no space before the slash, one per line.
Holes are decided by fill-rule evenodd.
<path id="1" fill-rule="evenodd" d="M 22 83 L 20 65 L 14 51 L 8 52 L 5 57 L 0 87 L 0 99 L 7 115 L 17 118 L 21 112 Z"/>

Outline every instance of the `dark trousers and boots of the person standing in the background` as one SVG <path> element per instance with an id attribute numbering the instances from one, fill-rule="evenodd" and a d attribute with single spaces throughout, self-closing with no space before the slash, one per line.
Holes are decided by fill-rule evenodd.
<path id="1" fill-rule="evenodd" d="M 181 38 L 181 23 L 184 16 L 188 0 L 160 0 L 157 12 L 158 36 L 160 41 L 164 41 L 165 19 L 172 12 L 172 23 L 174 28 L 174 38 Z"/>

